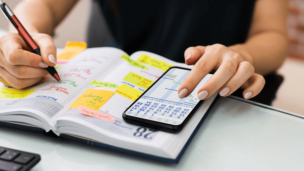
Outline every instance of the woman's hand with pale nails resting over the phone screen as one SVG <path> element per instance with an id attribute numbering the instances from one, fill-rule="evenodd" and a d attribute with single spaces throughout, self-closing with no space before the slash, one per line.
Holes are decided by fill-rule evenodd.
<path id="1" fill-rule="evenodd" d="M 243 97 L 249 99 L 261 92 L 265 84 L 264 77 L 254 73 L 250 62 L 221 44 L 189 47 L 185 51 L 185 63 L 195 65 L 178 90 L 179 98 L 189 96 L 213 69 L 217 71 L 198 91 L 200 100 L 207 99 L 217 90 L 220 96 L 229 96 L 240 87 L 245 89 Z"/>

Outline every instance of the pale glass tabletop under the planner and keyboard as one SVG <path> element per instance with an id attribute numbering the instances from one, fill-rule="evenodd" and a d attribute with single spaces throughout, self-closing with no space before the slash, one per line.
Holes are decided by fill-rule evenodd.
<path id="1" fill-rule="evenodd" d="M 2 32 L 0 30 L 0 36 Z M 178 164 L 0 127 L 0 146 L 38 153 L 36 170 L 302 170 L 303 116 L 219 97 Z"/>

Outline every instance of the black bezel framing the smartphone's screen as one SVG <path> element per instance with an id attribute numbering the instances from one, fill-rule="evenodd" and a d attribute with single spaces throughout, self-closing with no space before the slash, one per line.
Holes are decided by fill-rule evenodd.
<path id="1" fill-rule="evenodd" d="M 166 72 L 164 72 L 163 75 L 161 75 L 145 92 L 143 92 L 143 94 L 141 94 L 124 112 L 123 112 L 123 119 L 130 123 L 130 124 L 135 124 L 135 125 L 140 125 L 143 127 L 148 127 L 148 128 L 152 128 L 152 129 L 157 129 L 160 131 L 165 131 L 165 132 L 171 132 L 171 133 L 175 133 L 175 132 L 179 132 L 182 130 L 182 128 L 188 123 L 188 121 L 192 118 L 192 116 L 194 115 L 194 113 L 199 109 L 199 107 L 205 102 L 205 100 L 200 100 L 196 106 L 193 108 L 193 110 L 188 114 L 188 116 L 186 117 L 186 119 L 179 125 L 171 125 L 171 124 L 166 124 L 166 123 L 162 123 L 162 122 L 157 122 L 154 120 L 148 120 L 145 118 L 140 118 L 140 117 L 134 117 L 134 116 L 129 116 L 126 114 L 126 111 L 130 109 L 130 107 L 132 107 L 135 103 L 137 103 L 137 100 L 140 99 L 146 92 L 148 92 L 148 90 L 153 87 L 153 85 L 158 82 L 165 74 L 167 74 L 167 72 L 172 69 L 172 68 L 178 68 L 178 69 L 185 69 L 185 70 L 189 70 L 191 71 L 191 69 L 188 68 L 182 68 L 182 67 L 171 67 L 169 68 Z"/>

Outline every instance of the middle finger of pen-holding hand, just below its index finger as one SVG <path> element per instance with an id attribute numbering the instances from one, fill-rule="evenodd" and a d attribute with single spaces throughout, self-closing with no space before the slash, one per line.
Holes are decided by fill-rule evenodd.
<path id="1" fill-rule="evenodd" d="M 0 52 L 1 55 L 1 52 Z M 3 55 L 3 54 L 2 54 Z M 0 57 L 0 66 L 20 79 L 43 77 L 48 74 L 44 68 L 36 68 L 25 65 L 11 65 L 8 61 Z"/>

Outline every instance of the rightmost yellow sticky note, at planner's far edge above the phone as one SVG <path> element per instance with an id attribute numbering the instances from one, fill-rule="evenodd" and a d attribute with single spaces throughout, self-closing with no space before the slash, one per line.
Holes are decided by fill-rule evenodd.
<path id="1" fill-rule="evenodd" d="M 163 71 L 167 71 L 170 67 L 173 67 L 173 65 L 171 65 L 171 64 L 168 64 L 166 62 L 163 62 L 163 61 L 155 59 L 155 58 L 151 58 L 151 57 L 147 56 L 146 54 L 142 54 L 137 59 L 137 61 L 140 61 L 142 63 L 153 66 L 153 67 L 158 68 Z"/>

